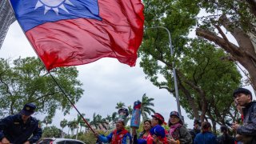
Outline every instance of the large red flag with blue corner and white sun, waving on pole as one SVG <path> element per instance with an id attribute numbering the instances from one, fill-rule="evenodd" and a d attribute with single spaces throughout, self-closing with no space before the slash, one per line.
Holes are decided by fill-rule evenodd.
<path id="1" fill-rule="evenodd" d="M 143 36 L 141 0 L 10 0 L 46 69 L 118 58 L 134 66 Z"/>

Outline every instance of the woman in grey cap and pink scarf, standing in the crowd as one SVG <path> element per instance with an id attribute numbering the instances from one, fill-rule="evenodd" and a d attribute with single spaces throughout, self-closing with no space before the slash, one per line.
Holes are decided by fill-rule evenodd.
<path id="1" fill-rule="evenodd" d="M 192 143 L 192 138 L 190 132 L 186 130 L 183 126 L 180 114 L 177 111 L 170 112 L 170 118 L 168 121 L 168 126 L 170 127 L 169 136 L 167 138 L 170 144 L 190 144 Z"/>

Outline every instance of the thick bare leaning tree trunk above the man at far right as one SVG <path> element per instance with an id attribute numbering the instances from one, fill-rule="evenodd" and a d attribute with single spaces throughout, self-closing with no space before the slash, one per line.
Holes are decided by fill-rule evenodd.
<path id="1" fill-rule="evenodd" d="M 222 21 L 225 21 L 222 23 L 227 30 L 231 29 L 229 28 L 230 25 L 227 24 L 228 22 L 226 22 L 227 19 L 225 17 L 222 18 Z M 226 50 L 227 53 L 232 55 L 234 60 L 238 61 L 243 67 L 245 67 L 250 74 L 251 85 L 253 86 L 254 90 L 256 90 L 256 54 L 250 37 L 248 34 L 244 33 L 238 28 L 231 29 L 231 34 L 233 34 L 234 38 L 236 38 L 239 45 L 236 46 L 232 42 L 228 41 L 226 35 L 218 26 L 216 27 L 219 33 L 222 34 L 222 38 L 209 30 L 204 30 L 201 28 L 197 28 L 196 34 L 222 47 L 222 49 Z"/>

